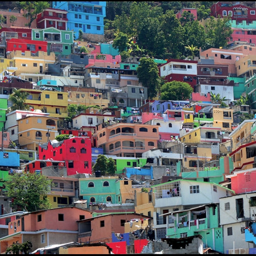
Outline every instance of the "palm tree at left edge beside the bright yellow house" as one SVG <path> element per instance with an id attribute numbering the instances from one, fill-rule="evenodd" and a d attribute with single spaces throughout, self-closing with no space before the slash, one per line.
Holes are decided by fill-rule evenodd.
<path id="1" fill-rule="evenodd" d="M 9 96 L 9 101 L 12 102 L 10 110 L 27 110 L 28 105 L 26 103 L 27 96 L 29 95 L 26 91 L 21 91 L 20 89 L 13 89 L 13 93 Z"/>

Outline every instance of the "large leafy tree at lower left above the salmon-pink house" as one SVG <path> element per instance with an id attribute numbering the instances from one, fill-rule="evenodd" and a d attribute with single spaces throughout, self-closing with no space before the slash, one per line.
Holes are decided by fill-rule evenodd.
<path id="1" fill-rule="evenodd" d="M 12 198 L 11 207 L 16 211 L 32 212 L 49 209 L 47 195 L 51 192 L 52 180 L 36 173 L 15 173 L 5 182 L 7 195 Z"/>

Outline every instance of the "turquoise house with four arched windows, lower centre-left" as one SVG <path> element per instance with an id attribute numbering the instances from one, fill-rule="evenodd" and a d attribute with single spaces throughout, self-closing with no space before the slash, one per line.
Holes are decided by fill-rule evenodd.
<path id="1" fill-rule="evenodd" d="M 88 203 L 121 203 L 120 181 L 118 177 L 101 176 L 79 179 L 79 195 Z M 98 176 L 98 177 L 97 177 Z"/>

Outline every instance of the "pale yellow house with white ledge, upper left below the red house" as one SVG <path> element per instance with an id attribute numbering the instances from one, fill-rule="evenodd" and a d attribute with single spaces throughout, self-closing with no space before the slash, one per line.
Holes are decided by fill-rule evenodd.
<path id="1" fill-rule="evenodd" d="M 12 51 L 7 54 L 7 59 L 13 61 L 14 67 L 17 67 L 16 75 L 21 73 L 45 74 L 48 64 L 55 63 L 55 54 L 51 52 L 49 55 L 43 51 L 36 54 L 30 51 Z"/>

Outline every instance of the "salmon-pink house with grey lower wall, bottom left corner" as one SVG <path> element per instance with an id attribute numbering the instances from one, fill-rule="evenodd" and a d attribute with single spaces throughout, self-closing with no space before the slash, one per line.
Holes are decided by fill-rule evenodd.
<path id="1" fill-rule="evenodd" d="M 32 251 L 53 244 L 77 241 L 77 222 L 88 219 L 92 212 L 76 207 L 62 207 L 26 213 L 8 223 L 8 235 L 0 239 L 0 254 L 13 243 L 30 241 Z"/>

